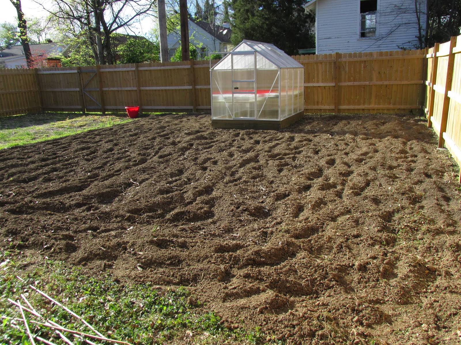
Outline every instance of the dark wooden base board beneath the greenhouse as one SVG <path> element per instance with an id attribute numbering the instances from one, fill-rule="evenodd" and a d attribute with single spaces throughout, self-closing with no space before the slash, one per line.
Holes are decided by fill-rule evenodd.
<path id="1" fill-rule="evenodd" d="M 213 128 L 221 129 L 266 129 L 278 130 L 286 128 L 304 117 L 304 111 L 287 117 L 282 121 L 265 121 L 265 120 L 211 120 Z"/>

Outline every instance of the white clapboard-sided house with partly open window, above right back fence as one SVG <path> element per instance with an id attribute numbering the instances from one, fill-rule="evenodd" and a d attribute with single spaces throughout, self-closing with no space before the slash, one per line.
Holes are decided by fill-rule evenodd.
<path id="1" fill-rule="evenodd" d="M 316 53 L 377 52 L 419 47 L 426 0 L 309 0 Z M 420 27 L 420 30 L 419 28 Z"/>

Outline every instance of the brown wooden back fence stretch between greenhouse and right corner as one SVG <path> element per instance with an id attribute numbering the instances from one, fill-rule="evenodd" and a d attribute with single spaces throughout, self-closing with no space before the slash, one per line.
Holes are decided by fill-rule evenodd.
<path id="1" fill-rule="evenodd" d="M 308 113 L 420 113 L 424 51 L 295 56 Z"/>

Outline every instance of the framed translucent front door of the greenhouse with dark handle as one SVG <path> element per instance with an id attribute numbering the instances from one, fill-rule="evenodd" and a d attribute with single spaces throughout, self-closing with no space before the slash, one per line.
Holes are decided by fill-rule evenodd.
<path id="1" fill-rule="evenodd" d="M 256 117 L 256 52 L 231 52 L 235 119 Z"/>

